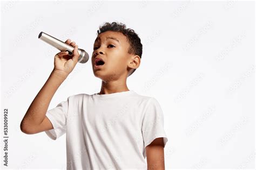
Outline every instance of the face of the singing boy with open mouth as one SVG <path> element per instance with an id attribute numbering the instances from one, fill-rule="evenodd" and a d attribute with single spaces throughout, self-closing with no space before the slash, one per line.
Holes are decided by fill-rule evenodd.
<path id="1" fill-rule="evenodd" d="M 128 53 L 130 44 L 123 33 L 106 31 L 100 33 L 93 45 L 92 69 L 96 77 L 104 81 L 117 80 L 127 76 L 131 66 L 132 54 Z M 96 66 L 95 59 L 102 59 L 103 65 Z"/>

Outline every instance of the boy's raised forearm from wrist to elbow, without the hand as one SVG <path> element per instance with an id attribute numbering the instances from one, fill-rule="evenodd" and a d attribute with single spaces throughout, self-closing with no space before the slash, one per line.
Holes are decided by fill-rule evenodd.
<path id="1" fill-rule="evenodd" d="M 26 125 L 39 125 L 43 122 L 53 95 L 65 79 L 66 76 L 52 70 L 48 80 L 30 104 L 28 111 L 26 111 L 21 128 Z"/>

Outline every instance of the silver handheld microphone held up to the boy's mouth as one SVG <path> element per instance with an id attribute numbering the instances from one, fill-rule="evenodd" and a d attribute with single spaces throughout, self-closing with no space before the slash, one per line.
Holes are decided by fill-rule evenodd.
<path id="1" fill-rule="evenodd" d="M 73 55 L 74 47 L 66 44 L 63 41 L 58 40 L 57 38 L 50 36 L 49 34 L 41 32 L 39 33 L 38 38 L 50 44 L 51 46 L 59 49 L 60 51 L 68 51 L 69 55 Z M 86 51 L 84 51 L 84 49 L 78 48 L 77 51 L 80 54 L 78 58 L 78 62 L 85 63 L 89 60 L 89 54 Z"/>

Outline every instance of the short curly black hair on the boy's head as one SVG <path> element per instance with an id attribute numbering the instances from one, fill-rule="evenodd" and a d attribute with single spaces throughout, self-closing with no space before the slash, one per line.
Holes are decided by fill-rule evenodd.
<path id="1" fill-rule="evenodd" d="M 126 38 L 129 40 L 130 47 L 128 49 L 128 53 L 139 55 L 140 59 L 142 58 L 142 43 L 140 42 L 140 38 L 138 34 L 135 33 L 134 30 L 126 29 L 126 25 L 123 23 L 105 22 L 104 25 L 99 27 L 99 30 L 97 30 L 97 33 L 99 35 L 100 33 L 103 33 L 106 31 L 116 31 L 116 32 L 123 33 L 124 36 L 126 36 Z M 132 75 L 132 73 L 134 73 L 135 70 L 136 69 L 133 69 L 130 75 Z"/>

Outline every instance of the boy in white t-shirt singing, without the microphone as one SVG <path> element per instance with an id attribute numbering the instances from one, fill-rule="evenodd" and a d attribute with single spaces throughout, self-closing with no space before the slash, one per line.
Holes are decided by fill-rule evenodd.
<path id="1" fill-rule="evenodd" d="M 140 65 L 138 34 L 122 23 L 99 28 L 91 57 L 93 74 L 102 80 L 100 92 L 77 94 L 48 110 L 52 96 L 78 60 L 59 52 L 49 79 L 22 122 L 26 134 L 45 133 L 53 140 L 66 133 L 67 169 L 164 169 L 163 111 L 158 101 L 129 90 L 126 79 Z M 145 161 L 147 158 L 147 161 Z"/>

